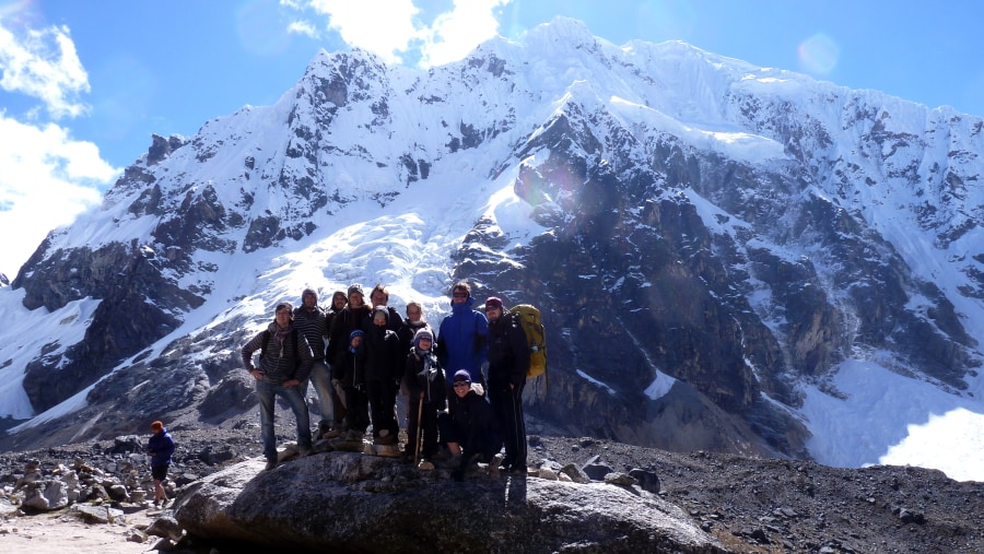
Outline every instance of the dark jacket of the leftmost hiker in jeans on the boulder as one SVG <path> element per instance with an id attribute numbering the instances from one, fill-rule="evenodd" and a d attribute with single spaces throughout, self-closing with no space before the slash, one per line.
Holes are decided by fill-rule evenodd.
<path id="1" fill-rule="evenodd" d="M 255 369 L 253 354 L 263 349 L 266 343 L 266 352 L 260 356 L 259 364 L 259 369 L 263 372 L 263 381 L 273 385 L 280 385 L 291 379 L 303 381 L 311 375 L 311 367 L 314 365 L 314 356 L 307 339 L 297 332 L 297 340 L 290 340 L 290 337 L 294 334 L 293 326 L 288 327 L 286 331 L 279 335 L 278 330 L 279 326 L 276 322 L 270 323 L 266 331 L 259 332 L 251 341 L 247 342 L 242 352 L 243 365 L 248 372 Z"/>

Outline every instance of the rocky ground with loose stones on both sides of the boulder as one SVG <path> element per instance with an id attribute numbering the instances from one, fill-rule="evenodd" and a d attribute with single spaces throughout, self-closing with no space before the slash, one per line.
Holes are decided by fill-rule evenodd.
<path id="1" fill-rule="evenodd" d="M 938 471 L 832 469 L 806 461 L 666 452 L 544 431 L 529 437 L 531 467 L 552 460 L 576 463 L 591 475 L 647 470 L 659 481 L 646 483 L 647 488 L 684 508 L 730 552 L 984 552 L 984 484 L 954 482 Z M 290 440 L 290 432 L 280 428 L 280 438 Z M 178 448 L 171 476 L 178 494 L 185 483 L 260 455 L 255 422 L 244 420 L 230 428 L 176 426 L 172 433 Z M 80 460 L 120 471 L 133 459 L 126 451 L 133 438 L 0 453 L 0 506 L 8 506 L 0 521 L 0 549 L 65 552 L 91 546 L 124 553 L 166 545 L 149 535 L 148 528 L 162 516 L 166 519 L 167 510 L 147 503 L 106 499 L 108 506 L 122 506 L 124 515 L 104 523 L 86 523 L 71 507 L 25 514 L 10 503 L 30 460 L 38 460 L 47 472 Z"/>

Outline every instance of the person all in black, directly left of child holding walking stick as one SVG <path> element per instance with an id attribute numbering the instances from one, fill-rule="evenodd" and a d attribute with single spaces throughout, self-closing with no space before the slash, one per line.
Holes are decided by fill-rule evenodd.
<path id="1" fill-rule="evenodd" d="M 372 328 L 365 331 L 365 356 L 355 365 L 353 381 L 365 387 L 373 420 L 373 441 L 396 445 L 400 427 L 396 420 L 396 394 L 403 376 L 400 339 L 388 329 L 389 310 L 373 308 Z"/>

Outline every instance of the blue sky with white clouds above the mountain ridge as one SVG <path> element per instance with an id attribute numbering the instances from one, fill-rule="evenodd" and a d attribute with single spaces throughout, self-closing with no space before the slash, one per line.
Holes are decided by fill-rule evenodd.
<path id="1" fill-rule="evenodd" d="M 0 236 L 19 237 L 0 272 L 98 205 L 151 133 L 274 103 L 319 48 L 427 67 L 555 15 L 984 116 L 977 2 L 0 0 Z"/>

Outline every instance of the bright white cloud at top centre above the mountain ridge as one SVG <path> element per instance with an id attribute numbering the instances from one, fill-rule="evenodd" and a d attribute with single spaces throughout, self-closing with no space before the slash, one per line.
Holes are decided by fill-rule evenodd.
<path id="1" fill-rule="evenodd" d="M 376 54 L 388 63 L 402 63 L 408 52 L 421 67 L 459 60 L 499 32 L 495 10 L 512 0 L 455 0 L 454 9 L 434 17 L 431 25 L 419 21 L 413 0 L 281 0 L 281 5 L 313 10 L 327 16 L 326 28 L 337 32 L 350 46 Z M 317 26 L 294 22 L 289 31 L 316 36 Z"/>

